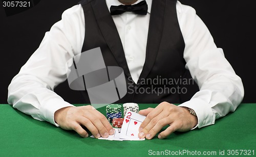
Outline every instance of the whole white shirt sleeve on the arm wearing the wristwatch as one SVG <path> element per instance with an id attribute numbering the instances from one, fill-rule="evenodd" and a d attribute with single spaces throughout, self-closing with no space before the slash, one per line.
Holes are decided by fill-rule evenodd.
<path id="1" fill-rule="evenodd" d="M 234 112 L 243 99 L 244 88 L 240 77 L 225 59 L 223 50 L 217 48 L 196 11 L 178 2 L 177 15 L 185 42 L 185 67 L 200 89 L 180 107 L 196 112 L 200 128 Z"/>

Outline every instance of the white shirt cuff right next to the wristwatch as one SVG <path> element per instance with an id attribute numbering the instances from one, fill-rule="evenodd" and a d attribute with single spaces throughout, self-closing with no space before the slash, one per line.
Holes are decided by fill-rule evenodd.
<path id="1" fill-rule="evenodd" d="M 193 109 L 198 118 L 198 125 L 194 128 L 204 127 L 215 123 L 215 114 L 209 107 L 209 104 L 200 98 L 193 98 L 179 105 L 179 107 L 187 107 Z M 192 129 L 194 129 L 192 128 Z"/>

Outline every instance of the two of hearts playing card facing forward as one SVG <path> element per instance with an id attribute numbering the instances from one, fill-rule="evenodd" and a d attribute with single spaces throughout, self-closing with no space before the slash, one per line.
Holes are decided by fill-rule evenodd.
<path id="1" fill-rule="evenodd" d="M 119 137 L 126 140 L 145 140 L 138 137 L 140 124 L 145 118 L 145 116 L 137 113 L 127 112 L 124 117 L 122 130 Z"/>

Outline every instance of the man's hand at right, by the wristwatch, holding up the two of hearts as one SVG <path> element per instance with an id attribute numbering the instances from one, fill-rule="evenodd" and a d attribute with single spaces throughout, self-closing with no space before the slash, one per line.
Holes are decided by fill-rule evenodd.
<path id="1" fill-rule="evenodd" d="M 175 131 L 187 132 L 198 122 L 197 116 L 190 114 L 187 108 L 168 102 L 160 103 L 155 109 L 141 110 L 139 114 L 146 116 L 139 128 L 139 138 L 148 140 L 155 137 L 165 125 L 169 126 L 158 135 L 159 139 L 166 138 Z"/>

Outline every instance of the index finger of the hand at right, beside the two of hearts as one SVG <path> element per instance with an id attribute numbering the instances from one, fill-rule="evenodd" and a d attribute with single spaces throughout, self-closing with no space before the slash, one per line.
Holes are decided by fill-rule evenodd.
<path id="1" fill-rule="evenodd" d="M 144 121 L 140 124 L 139 127 L 139 132 L 142 132 L 143 128 L 150 123 L 150 121 L 155 118 L 157 115 L 159 115 L 161 112 L 163 111 L 163 109 L 160 107 L 156 107 L 155 109 L 151 110 L 150 113 L 147 114 L 146 118 L 144 119 Z M 146 133 L 149 132 L 149 130 L 144 130 L 146 131 Z"/>

